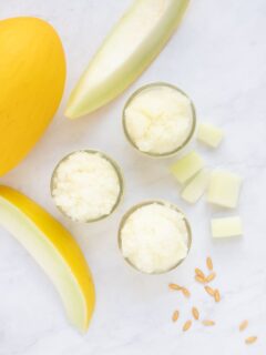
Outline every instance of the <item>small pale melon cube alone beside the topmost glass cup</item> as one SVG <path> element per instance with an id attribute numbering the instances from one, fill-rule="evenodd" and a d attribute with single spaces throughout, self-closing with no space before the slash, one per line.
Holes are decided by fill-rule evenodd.
<path id="1" fill-rule="evenodd" d="M 224 138 L 224 132 L 207 123 L 201 123 L 197 129 L 198 141 L 212 146 L 217 148 Z"/>

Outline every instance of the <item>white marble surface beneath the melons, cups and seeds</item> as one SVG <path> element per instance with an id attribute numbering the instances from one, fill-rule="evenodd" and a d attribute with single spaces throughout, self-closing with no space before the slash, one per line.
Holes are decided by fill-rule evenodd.
<path id="1" fill-rule="evenodd" d="M 45 206 L 76 236 L 94 275 L 98 303 L 85 335 L 73 329 L 53 286 L 28 253 L 0 229 L 0 354 L 1 355 L 172 355 L 265 354 L 266 322 L 266 2 L 265 0 L 192 0 L 182 27 L 150 69 L 117 100 L 91 116 L 68 121 L 66 98 L 85 63 L 130 0 L 12 0 L 1 1 L 1 19 L 37 16 L 59 31 L 68 58 L 68 83 L 53 123 L 30 155 L 0 179 Z M 222 126 L 226 139 L 217 151 L 194 143 L 209 166 L 223 166 L 244 176 L 238 211 L 218 211 L 204 199 L 195 206 L 181 201 L 168 173 L 174 159 L 149 160 L 126 143 L 121 111 L 140 85 L 167 81 L 195 102 L 198 120 Z M 109 220 L 78 225 L 53 206 L 49 180 L 66 153 L 95 148 L 122 166 L 126 193 Z M 184 209 L 193 227 L 193 248 L 176 271 L 146 276 L 131 270 L 116 244 L 117 225 L 132 204 L 166 199 Z M 238 213 L 245 235 L 213 241 L 209 219 Z M 195 266 L 214 260 L 222 302 L 214 304 L 193 280 Z M 167 290 L 168 282 L 186 285 L 190 301 Z M 194 323 L 182 333 L 196 305 L 203 317 L 217 324 Z M 175 308 L 177 324 L 171 322 Z M 241 334 L 238 324 L 249 320 Z M 248 335 L 258 342 L 244 344 Z"/>

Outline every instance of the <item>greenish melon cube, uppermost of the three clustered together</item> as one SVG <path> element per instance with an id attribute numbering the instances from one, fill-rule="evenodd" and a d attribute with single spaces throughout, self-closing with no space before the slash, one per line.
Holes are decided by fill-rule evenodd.
<path id="1" fill-rule="evenodd" d="M 185 183 L 193 178 L 204 166 L 204 161 L 195 151 L 181 158 L 171 166 L 171 171 L 175 179 L 181 183 Z"/>

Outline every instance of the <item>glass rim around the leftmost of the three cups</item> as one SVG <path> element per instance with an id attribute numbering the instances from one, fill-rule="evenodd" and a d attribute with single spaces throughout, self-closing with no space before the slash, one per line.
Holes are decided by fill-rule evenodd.
<path id="1" fill-rule="evenodd" d="M 69 154 L 66 154 L 65 156 L 63 156 L 59 162 L 58 164 L 55 165 L 55 168 L 53 169 L 53 172 L 52 172 L 52 176 L 51 176 L 51 181 L 50 181 L 50 193 L 51 193 L 51 196 L 52 196 L 52 200 L 54 201 L 53 199 L 53 189 L 54 189 L 54 179 L 55 179 L 55 175 L 57 175 L 57 171 L 58 171 L 58 168 L 60 166 L 60 164 L 62 162 L 64 162 L 68 158 L 70 158 L 71 155 L 73 154 L 76 154 L 79 152 L 85 152 L 85 153 L 89 153 L 89 154 L 100 154 L 102 158 L 104 158 L 114 169 L 116 175 L 117 175 L 117 179 L 119 179 L 119 185 L 120 185 L 120 193 L 117 195 L 117 199 L 116 199 L 116 202 L 115 204 L 113 205 L 112 210 L 110 211 L 110 213 L 108 214 L 104 214 L 104 215 L 101 215 L 96 219 L 92 219 L 92 220 L 86 220 L 86 221 L 79 221 L 79 220 L 74 220 L 73 217 L 71 217 L 70 215 L 68 215 L 63 209 L 59 205 L 57 205 L 57 203 L 54 202 L 57 209 L 64 215 L 66 216 L 68 219 L 70 219 L 71 221 L 73 222 L 76 222 L 76 223 L 92 223 L 92 222 L 98 222 L 98 221 L 101 221 L 101 220 L 104 220 L 106 217 L 109 217 L 120 205 L 122 199 L 123 199 L 123 195 L 124 195 L 124 178 L 123 178 L 123 173 L 122 173 L 122 170 L 120 168 L 120 165 L 112 159 L 110 158 L 108 154 L 103 153 L 102 151 L 100 150 L 93 150 L 93 149 L 81 149 L 81 150 L 76 150 L 76 151 L 73 151 Z"/>

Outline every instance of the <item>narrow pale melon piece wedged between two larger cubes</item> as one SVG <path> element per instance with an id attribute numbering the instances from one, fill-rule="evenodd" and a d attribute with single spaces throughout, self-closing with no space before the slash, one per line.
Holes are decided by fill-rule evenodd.
<path id="1" fill-rule="evenodd" d="M 202 197 L 205 190 L 207 189 L 208 181 L 209 181 L 209 171 L 206 169 L 203 169 L 184 187 L 184 190 L 181 193 L 181 197 L 188 203 L 196 203 Z"/>

